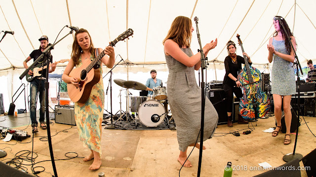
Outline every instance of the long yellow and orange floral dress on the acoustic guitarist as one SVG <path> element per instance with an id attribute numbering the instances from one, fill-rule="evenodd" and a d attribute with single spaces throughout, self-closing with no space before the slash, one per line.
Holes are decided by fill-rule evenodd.
<path id="1" fill-rule="evenodd" d="M 94 59 L 90 56 L 90 59 Z M 79 64 L 82 65 L 81 57 Z M 100 81 L 92 87 L 90 96 L 85 103 L 75 103 L 75 120 L 79 138 L 83 146 L 99 152 L 101 155 L 102 119 L 104 108 L 104 89 L 102 79 L 102 64 L 100 65 Z"/>

